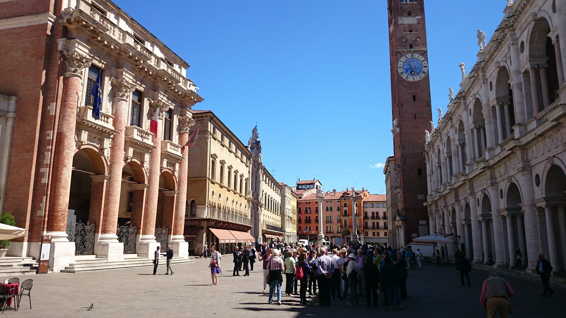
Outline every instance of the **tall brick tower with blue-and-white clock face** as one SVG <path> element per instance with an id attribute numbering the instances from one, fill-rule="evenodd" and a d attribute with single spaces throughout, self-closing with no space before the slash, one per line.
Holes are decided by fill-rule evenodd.
<path id="1" fill-rule="evenodd" d="M 395 154 L 390 177 L 397 184 L 391 191 L 397 211 L 389 222 L 397 229 L 398 244 L 409 244 L 429 234 L 423 152 L 424 130 L 430 130 L 432 117 L 424 0 L 388 0 L 387 10 Z"/>

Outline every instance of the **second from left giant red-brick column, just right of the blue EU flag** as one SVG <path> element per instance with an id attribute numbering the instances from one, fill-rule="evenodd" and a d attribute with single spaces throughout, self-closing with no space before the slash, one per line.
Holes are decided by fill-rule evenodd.
<path id="1" fill-rule="evenodd" d="M 102 231 L 95 246 L 95 254 L 108 258 L 109 261 L 120 261 L 124 258 L 124 244 L 118 242 L 116 228 L 118 226 L 118 209 L 122 190 L 122 169 L 124 167 L 124 142 L 126 122 L 128 118 L 128 98 L 134 91 L 131 73 L 118 70 L 118 78 L 112 79 L 112 115 L 114 130 L 118 131 L 110 141 L 110 158 L 108 165 L 108 183 L 106 184 L 106 206 L 102 218 Z"/>

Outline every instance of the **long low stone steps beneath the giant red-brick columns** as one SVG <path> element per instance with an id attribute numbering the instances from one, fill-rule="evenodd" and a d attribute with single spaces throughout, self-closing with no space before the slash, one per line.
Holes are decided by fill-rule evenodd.
<path id="1" fill-rule="evenodd" d="M 91 270 L 106 270 L 106 269 L 119 269 L 119 268 L 132 268 L 132 267 L 146 267 L 153 266 L 153 260 L 147 257 L 141 257 L 137 254 L 126 254 L 122 261 L 108 261 L 108 259 L 98 259 L 95 255 L 81 255 L 75 257 L 75 263 L 69 264 L 62 273 L 82 273 Z M 178 256 L 173 256 L 172 264 L 192 263 L 194 260 L 181 259 Z M 165 256 L 160 259 L 160 265 L 165 266 Z"/>

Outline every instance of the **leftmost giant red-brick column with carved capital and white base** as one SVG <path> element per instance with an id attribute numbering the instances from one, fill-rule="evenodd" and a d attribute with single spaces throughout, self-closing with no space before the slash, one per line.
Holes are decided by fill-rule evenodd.
<path id="1" fill-rule="evenodd" d="M 67 214 L 71 193 L 72 158 L 75 151 L 76 111 L 79 104 L 81 81 L 85 67 L 91 66 L 91 60 L 76 50 L 63 50 L 65 55 L 65 77 L 59 122 L 57 143 L 55 144 L 51 183 L 51 204 L 47 219 L 47 233 L 51 235 L 51 254 L 49 267 L 60 272 L 75 259 L 75 243 L 67 239 Z"/>

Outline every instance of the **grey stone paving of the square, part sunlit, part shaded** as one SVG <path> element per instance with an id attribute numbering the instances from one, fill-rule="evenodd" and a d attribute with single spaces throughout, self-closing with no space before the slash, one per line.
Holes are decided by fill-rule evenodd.
<path id="1" fill-rule="evenodd" d="M 208 261 L 174 265 L 174 276 L 152 276 L 152 267 L 105 270 L 89 273 L 53 273 L 26 275 L 32 278 L 32 306 L 22 300 L 18 312 L 5 312 L 6 317 L 325 317 L 335 313 L 357 317 L 374 315 L 405 317 L 484 317 L 479 305 L 481 284 L 487 277 L 484 270 L 470 273 L 472 286 L 461 286 L 453 267 L 428 266 L 409 271 L 408 294 L 403 309 L 381 305 L 366 307 L 365 298 L 358 306 L 346 300 L 333 300 L 331 307 L 299 306 L 299 297 L 283 297 L 283 305 L 270 305 L 262 293 L 261 267 L 250 277 L 231 276 L 231 255 L 221 261 L 224 272 L 217 286 L 210 286 Z M 228 261 L 227 261 L 228 260 Z M 257 264 L 256 264 L 257 265 Z M 259 269 L 259 270 L 258 270 Z M 503 276 L 505 277 L 505 276 Z M 505 277 L 508 278 L 508 277 Z M 516 295 L 511 300 L 511 317 L 564 317 L 566 290 L 555 287 L 556 293 L 542 297 L 538 282 L 508 278 Z M 380 294 L 381 296 L 381 294 Z M 87 307 L 94 304 L 91 311 Z M 370 316 L 372 315 L 372 316 Z"/>

